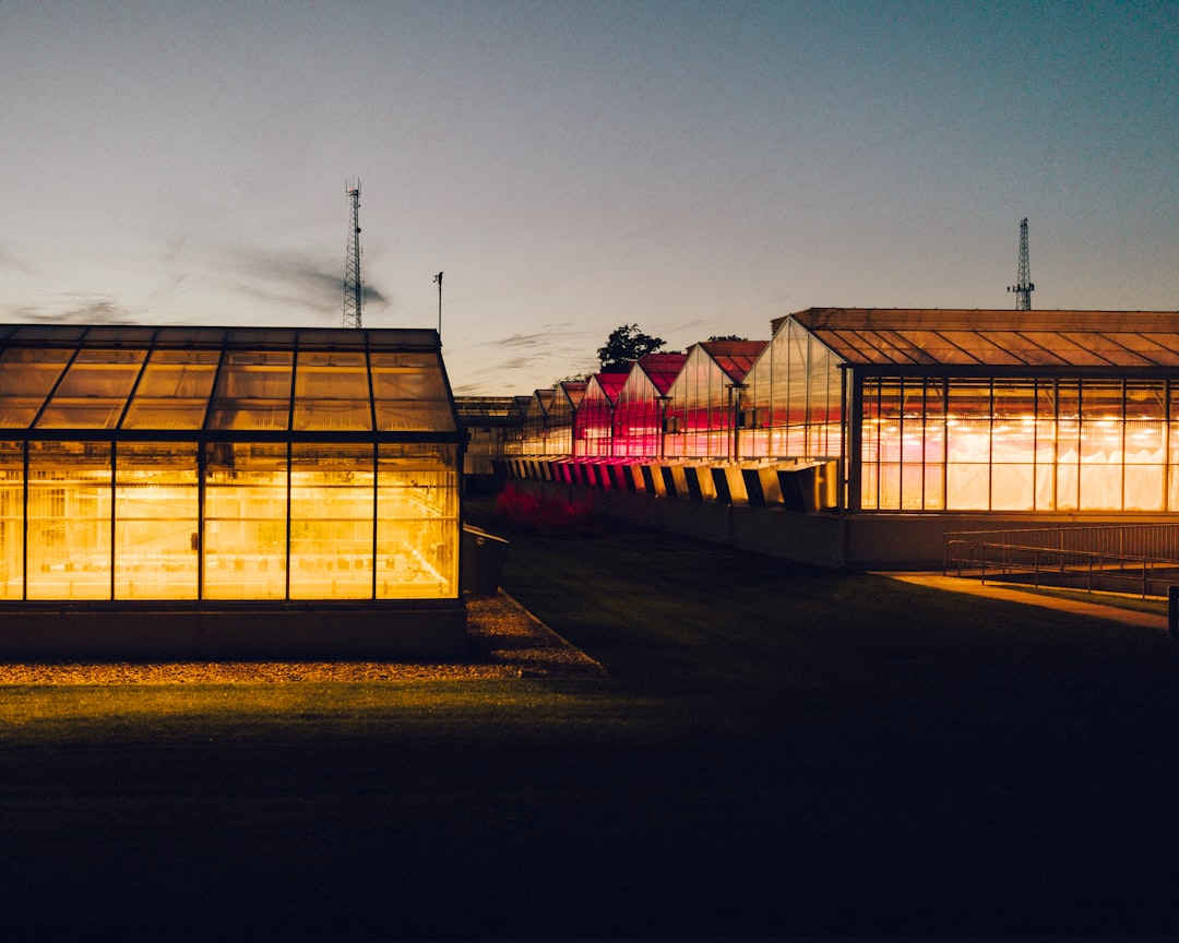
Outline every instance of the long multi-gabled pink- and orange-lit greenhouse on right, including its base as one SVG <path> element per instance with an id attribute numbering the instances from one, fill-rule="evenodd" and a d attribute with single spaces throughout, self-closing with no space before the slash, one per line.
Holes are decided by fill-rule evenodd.
<path id="1" fill-rule="evenodd" d="M 627 470 L 582 477 L 683 533 L 937 566 L 948 532 L 1167 522 L 1177 370 L 1174 311 L 812 308 L 769 343 L 693 345 L 666 393 L 633 364 L 587 450 Z"/>

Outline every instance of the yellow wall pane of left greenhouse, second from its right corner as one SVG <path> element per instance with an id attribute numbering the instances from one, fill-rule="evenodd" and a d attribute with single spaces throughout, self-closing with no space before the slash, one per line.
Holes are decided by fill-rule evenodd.
<path id="1" fill-rule="evenodd" d="M 373 447 L 291 447 L 291 599 L 373 598 Z"/>

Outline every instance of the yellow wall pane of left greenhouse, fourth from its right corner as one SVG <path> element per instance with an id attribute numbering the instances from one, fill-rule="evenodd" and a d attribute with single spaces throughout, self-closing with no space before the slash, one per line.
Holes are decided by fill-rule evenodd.
<path id="1" fill-rule="evenodd" d="M 114 598 L 196 599 L 197 444 L 120 442 L 114 481 Z"/>

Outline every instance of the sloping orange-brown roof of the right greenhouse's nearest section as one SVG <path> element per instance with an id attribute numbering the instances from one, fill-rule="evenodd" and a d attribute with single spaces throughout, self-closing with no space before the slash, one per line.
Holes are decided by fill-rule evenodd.
<path id="1" fill-rule="evenodd" d="M 851 364 L 1179 367 L 1179 311 L 810 308 L 790 317 Z"/>

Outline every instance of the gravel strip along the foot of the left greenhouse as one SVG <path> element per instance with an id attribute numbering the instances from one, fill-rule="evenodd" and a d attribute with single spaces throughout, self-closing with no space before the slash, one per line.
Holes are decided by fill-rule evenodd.
<path id="1" fill-rule="evenodd" d="M 0 685 L 225 685 L 299 681 L 600 679 L 601 665 L 505 594 L 467 601 L 467 658 L 401 661 L 177 661 L 0 664 Z"/>

